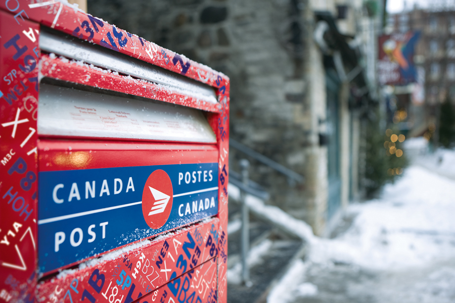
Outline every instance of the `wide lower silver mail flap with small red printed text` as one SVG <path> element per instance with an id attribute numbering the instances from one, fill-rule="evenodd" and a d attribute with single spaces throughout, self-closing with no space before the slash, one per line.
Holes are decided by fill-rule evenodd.
<path id="1" fill-rule="evenodd" d="M 201 111 L 40 84 L 38 134 L 215 143 Z"/>

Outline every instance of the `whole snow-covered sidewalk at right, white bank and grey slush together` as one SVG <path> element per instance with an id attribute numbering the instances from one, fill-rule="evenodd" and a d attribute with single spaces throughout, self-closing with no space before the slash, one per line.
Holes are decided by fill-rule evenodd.
<path id="1" fill-rule="evenodd" d="M 412 166 L 351 227 L 315 238 L 268 302 L 454 302 L 455 181 Z"/>

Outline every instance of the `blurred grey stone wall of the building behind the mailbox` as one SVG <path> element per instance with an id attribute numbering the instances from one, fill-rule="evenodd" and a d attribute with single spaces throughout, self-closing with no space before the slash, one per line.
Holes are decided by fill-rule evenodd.
<path id="1" fill-rule="evenodd" d="M 305 0 L 89 0 L 88 12 L 228 75 L 231 137 L 304 175 L 305 183 L 290 186 L 254 161 L 251 179 L 270 191 L 268 203 L 323 232 L 325 74 Z M 244 156 L 230 153 L 239 171 Z"/>

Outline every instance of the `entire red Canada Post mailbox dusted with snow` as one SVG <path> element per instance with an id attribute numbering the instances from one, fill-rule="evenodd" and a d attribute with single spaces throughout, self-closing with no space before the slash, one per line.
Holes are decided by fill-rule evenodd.
<path id="1" fill-rule="evenodd" d="M 0 299 L 225 302 L 229 78 L 59 1 L 0 10 Z"/>

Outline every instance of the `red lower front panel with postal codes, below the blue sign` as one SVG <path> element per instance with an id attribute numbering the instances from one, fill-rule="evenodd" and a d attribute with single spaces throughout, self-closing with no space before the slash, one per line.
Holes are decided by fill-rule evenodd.
<path id="1" fill-rule="evenodd" d="M 218 221 L 213 218 L 151 241 L 145 240 L 113 251 L 98 260 L 79 265 L 78 270 L 63 271 L 56 277 L 40 282 L 38 298 L 49 302 L 77 302 L 84 296 L 89 301 L 91 297 L 101 301 L 111 297 L 112 301 L 120 299 L 119 302 L 129 303 L 147 294 L 147 298 L 151 298 L 157 288 L 170 281 L 171 284 L 158 289 L 155 296 L 160 293 L 164 295 L 164 290 L 172 295 L 175 290 L 176 297 L 182 288 L 188 288 L 183 284 L 189 276 L 196 276 L 196 280 L 195 277 L 190 278 L 190 285 L 200 285 L 204 280 L 204 286 L 210 287 L 216 272 L 214 236 Z M 181 277 L 185 273 L 188 274 Z M 196 289 L 200 288 L 188 288 L 187 296 L 191 296 Z M 203 296 L 207 297 L 207 293 Z"/>

